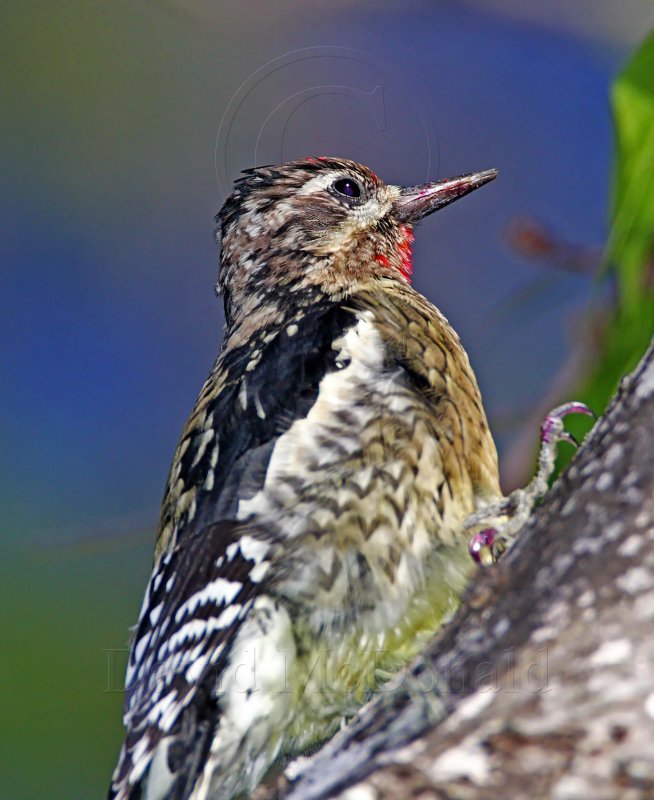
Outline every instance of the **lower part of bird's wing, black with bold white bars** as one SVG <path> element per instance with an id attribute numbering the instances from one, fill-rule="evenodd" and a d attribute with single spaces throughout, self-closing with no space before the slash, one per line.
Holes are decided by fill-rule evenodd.
<path id="1" fill-rule="evenodd" d="M 267 549 L 234 523 L 218 523 L 160 559 L 130 654 L 127 736 L 110 797 L 132 796 L 161 743 L 171 786 L 191 781 L 193 754 L 209 747 L 215 735 L 221 679 L 237 633 L 261 594 Z M 186 793 L 180 788 L 173 796 Z"/>

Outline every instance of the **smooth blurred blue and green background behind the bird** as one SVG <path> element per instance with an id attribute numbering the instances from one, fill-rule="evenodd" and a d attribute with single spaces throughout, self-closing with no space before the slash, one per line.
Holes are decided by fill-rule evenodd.
<path id="1" fill-rule="evenodd" d="M 105 790 L 169 460 L 220 343 L 212 218 L 239 170 L 499 168 L 418 230 L 415 285 L 463 339 L 510 488 L 592 284 L 527 257 L 516 220 L 592 262 L 608 88 L 652 24 L 649 0 L 3 3 L 4 796 Z"/>

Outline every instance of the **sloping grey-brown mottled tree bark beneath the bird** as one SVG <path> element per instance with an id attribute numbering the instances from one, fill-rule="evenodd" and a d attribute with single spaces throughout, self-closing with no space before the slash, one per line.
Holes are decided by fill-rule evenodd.
<path id="1" fill-rule="evenodd" d="M 654 798 L 654 344 L 511 553 L 264 798 Z"/>

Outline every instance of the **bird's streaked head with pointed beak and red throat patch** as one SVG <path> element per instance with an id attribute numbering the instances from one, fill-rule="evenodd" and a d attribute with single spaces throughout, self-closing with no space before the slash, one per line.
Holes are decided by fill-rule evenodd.
<path id="1" fill-rule="evenodd" d="M 218 215 L 226 305 L 263 292 L 345 296 L 375 278 L 410 282 L 413 227 L 497 175 L 402 188 L 340 158 L 246 170 Z"/>

